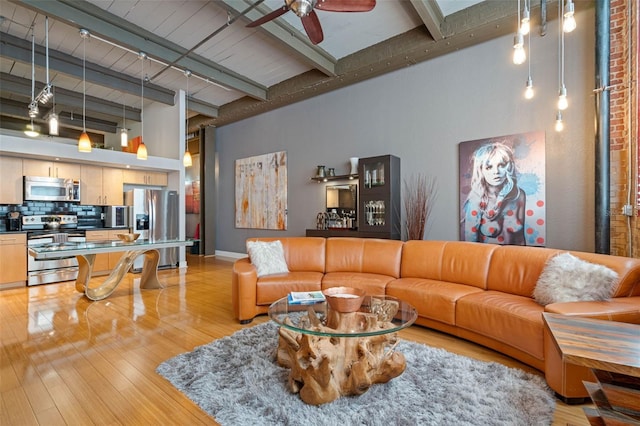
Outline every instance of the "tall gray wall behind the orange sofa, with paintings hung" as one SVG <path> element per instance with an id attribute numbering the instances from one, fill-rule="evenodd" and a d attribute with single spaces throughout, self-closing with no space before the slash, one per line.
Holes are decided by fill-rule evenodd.
<path id="1" fill-rule="evenodd" d="M 557 21 L 545 37 L 534 28 L 531 68 L 536 95 L 523 97 L 527 65 L 511 62 L 505 36 L 375 79 L 217 129 L 219 194 L 216 249 L 245 252 L 253 236 L 300 236 L 315 227 L 324 184 L 318 164 L 348 173 L 349 157 L 394 154 L 402 178 L 438 179 L 427 239 L 458 239 L 458 144 L 543 130 L 546 134 L 547 246 L 594 249 L 594 12 L 577 15 L 565 38 L 569 109 L 554 130 L 558 93 Z M 514 23 L 515 25 L 515 23 Z M 234 226 L 234 162 L 275 151 L 288 155 L 288 229 Z"/>

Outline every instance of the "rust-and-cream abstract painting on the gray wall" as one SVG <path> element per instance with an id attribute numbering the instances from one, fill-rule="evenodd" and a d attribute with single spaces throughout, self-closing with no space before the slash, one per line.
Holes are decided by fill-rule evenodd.
<path id="1" fill-rule="evenodd" d="M 236 160 L 236 228 L 287 229 L 287 152 Z"/>

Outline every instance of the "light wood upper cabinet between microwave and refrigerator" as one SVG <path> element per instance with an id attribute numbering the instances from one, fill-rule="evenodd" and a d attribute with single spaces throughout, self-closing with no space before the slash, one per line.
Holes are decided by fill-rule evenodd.
<path id="1" fill-rule="evenodd" d="M 80 203 L 117 206 L 124 202 L 122 169 L 82 166 L 80 171 Z"/>

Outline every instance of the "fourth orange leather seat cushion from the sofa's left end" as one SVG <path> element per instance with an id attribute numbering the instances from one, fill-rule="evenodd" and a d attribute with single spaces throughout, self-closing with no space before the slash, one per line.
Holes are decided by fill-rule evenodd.
<path id="1" fill-rule="evenodd" d="M 543 360 L 543 311 L 530 297 L 480 291 L 458 300 L 456 326 Z"/>

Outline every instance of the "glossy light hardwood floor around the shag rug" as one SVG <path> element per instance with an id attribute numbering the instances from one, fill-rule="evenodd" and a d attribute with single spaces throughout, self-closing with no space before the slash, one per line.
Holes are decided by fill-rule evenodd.
<path id="1" fill-rule="evenodd" d="M 139 275 L 128 274 L 98 302 L 73 282 L 0 291 L 0 424 L 216 424 L 155 368 L 268 318 L 245 326 L 233 318 L 231 262 L 189 256 L 188 264 L 161 271 L 160 290 L 141 291 Z M 540 374 L 423 327 L 401 337 Z M 553 424 L 588 425 L 582 407 L 558 402 Z"/>

